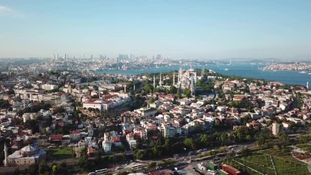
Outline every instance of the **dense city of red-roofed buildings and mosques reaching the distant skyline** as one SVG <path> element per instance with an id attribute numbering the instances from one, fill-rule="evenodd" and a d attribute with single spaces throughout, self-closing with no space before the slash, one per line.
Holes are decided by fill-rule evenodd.
<path id="1" fill-rule="evenodd" d="M 215 61 L 161 56 L 135 59 L 136 65 L 157 67 L 151 60 L 162 60 L 162 66 L 179 64 L 180 69 L 137 75 L 94 71 L 118 63 L 135 66 L 132 59 L 70 61 L 53 55 L 3 68 L 1 171 L 308 173 L 308 83 L 183 69 Z M 270 169 L 255 165 L 268 158 L 262 164 Z"/>

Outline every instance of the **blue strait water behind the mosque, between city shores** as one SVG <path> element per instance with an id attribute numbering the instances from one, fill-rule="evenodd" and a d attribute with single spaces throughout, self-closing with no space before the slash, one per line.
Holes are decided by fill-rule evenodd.
<path id="1" fill-rule="evenodd" d="M 264 67 L 262 64 L 235 64 L 235 65 L 205 65 L 205 69 L 211 69 L 217 73 L 224 75 L 238 75 L 241 77 L 260 78 L 266 80 L 280 81 L 287 84 L 306 85 L 307 81 L 311 81 L 311 75 L 301 74 L 300 71 L 262 71 L 258 70 Z M 189 69 L 189 66 L 184 66 L 183 69 Z M 193 69 L 202 69 L 203 66 L 193 66 Z M 229 71 L 225 71 L 225 69 Z M 179 70 L 179 66 L 167 66 L 160 68 L 150 68 L 144 70 L 100 70 L 97 73 L 110 73 L 110 74 L 141 74 L 141 73 L 158 73 Z M 200 72 L 201 73 L 201 72 Z M 309 73 L 309 72 L 308 72 Z"/>

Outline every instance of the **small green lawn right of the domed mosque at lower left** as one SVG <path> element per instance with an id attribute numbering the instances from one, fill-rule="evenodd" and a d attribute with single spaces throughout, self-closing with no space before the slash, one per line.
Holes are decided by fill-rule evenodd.
<path id="1" fill-rule="evenodd" d="M 70 147 L 47 148 L 45 149 L 52 159 L 68 159 L 74 157 L 74 150 Z"/>

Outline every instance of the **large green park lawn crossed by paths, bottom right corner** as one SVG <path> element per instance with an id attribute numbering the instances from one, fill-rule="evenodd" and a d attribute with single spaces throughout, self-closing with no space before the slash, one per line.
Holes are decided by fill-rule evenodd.
<path id="1" fill-rule="evenodd" d="M 287 150 L 274 150 L 267 149 L 263 151 L 254 152 L 250 156 L 231 158 L 226 163 L 240 169 L 246 174 L 275 174 L 275 170 L 270 158 L 274 162 L 277 174 L 310 174 L 307 165 L 296 160 L 290 154 L 290 149 Z M 242 163 L 250 168 L 243 166 L 235 161 Z"/>

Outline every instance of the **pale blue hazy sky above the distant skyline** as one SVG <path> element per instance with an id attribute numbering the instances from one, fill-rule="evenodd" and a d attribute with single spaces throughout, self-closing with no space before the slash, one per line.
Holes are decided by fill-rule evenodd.
<path id="1" fill-rule="evenodd" d="M 311 59 L 311 1 L 0 0 L 0 57 Z"/>

